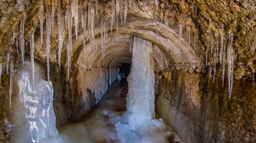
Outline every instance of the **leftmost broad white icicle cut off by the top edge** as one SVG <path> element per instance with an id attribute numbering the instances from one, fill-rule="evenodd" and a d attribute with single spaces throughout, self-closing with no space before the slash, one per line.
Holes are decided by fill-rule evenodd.
<path id="1" fill-rule="evenodd" d="M 72 0 L 71 2 L 71 15 L 74 17 L 74 26 L 75 26 L 75 37 L 77 40 L 77 28 L 78 28 L 78 0 Z"/>

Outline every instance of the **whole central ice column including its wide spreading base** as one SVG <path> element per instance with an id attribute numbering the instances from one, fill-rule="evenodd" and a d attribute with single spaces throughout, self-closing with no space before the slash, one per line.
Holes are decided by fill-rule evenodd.
<path id="1" fill-rule="evenodd" d="M 114 117 L 120 143 L 168 143 L 167 127 L 154 119 L 153 44 L 134 36 L 132 65 L 128 76 L 127 111 Z"/>

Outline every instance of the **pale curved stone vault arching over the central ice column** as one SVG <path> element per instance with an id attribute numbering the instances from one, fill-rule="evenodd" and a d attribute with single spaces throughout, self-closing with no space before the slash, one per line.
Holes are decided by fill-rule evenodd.
<path id="1" fill-rule="evenodd" d="M 172 29 L 166 30 L 165 26 L 161 23 L 156 23 L 152 19 L 130 16 L 127 19 L 126 26 L 123 24 L 119 26 L 119 31 L 117 32 L 113 29 L 112 34 L 110 27 L 108 27 L 108 37 L 104 42 L 104 56 L 102 56 L 100 28 L 95 28 L 96 38 L 94 52 L 88 36 L 86 36 L 87 42 L 85 49 L 83 49 L 82 33 L 79 34 L 77 40 L 73 36 L 72 63 L 85 69 L 90 69 L 92 66 L 108 67 L 116 66 L 124 62 L 131 63 L 131 36 L 139 36 L 151 41 L 153 44 L 157 45 L 159 49 L 168 53 L 168 58 L 171 59 L 172 63 L 201 63 L 193 47 L 189 46 L 184 38 L 182 38 L 180 42 L 178 34 Z M 154 46 L 154 48 L 155 47 L 156 46 Z M 66 61 L 64 64 L 66 64 Z"/>

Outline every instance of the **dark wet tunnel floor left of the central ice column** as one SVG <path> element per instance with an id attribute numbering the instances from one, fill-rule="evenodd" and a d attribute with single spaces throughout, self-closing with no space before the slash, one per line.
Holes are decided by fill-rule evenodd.
<path id="1" fill-rule="evenodd" d="M 126 110 L 128 82 L 115 81 L 101 102 L 84 118 L 60 129 L 60 136 L 68 143 L 119 143 L 111 118 L 115 112 Z"/>

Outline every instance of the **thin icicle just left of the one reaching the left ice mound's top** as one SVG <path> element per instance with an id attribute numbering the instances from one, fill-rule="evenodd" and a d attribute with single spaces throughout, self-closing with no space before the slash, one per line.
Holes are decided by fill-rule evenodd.
<path id="1" fill-rule="evenodd" d="M 20 26 L 19 26 L 19 38 L 20 38 L 20 51 L 21 51 L 21 59 L 22 59 L 22 65 L 24 65 L 24 21 L 26 19 L 25 14 L 21 16 L 20 20 Z"/>

